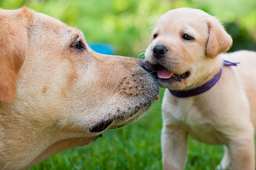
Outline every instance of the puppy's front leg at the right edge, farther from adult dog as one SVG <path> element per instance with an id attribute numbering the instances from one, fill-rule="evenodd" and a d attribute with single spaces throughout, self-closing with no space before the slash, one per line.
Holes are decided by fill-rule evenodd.
<path id="1" fill-rule="evenodd" d="M 229 150 L 232 170 L 255 170 L 254 130 L 251 123 L 247 129 L 230 137 Z"/>

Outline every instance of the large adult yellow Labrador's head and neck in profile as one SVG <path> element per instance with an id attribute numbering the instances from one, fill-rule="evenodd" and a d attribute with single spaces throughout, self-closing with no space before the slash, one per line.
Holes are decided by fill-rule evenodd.
<path id="1" fill-rule="evenodd" d="M 0 9 L 0 169 L 27 169 L 140 118 L 158 98 L 144 62 L 103 55 L 81 31 Z"/>

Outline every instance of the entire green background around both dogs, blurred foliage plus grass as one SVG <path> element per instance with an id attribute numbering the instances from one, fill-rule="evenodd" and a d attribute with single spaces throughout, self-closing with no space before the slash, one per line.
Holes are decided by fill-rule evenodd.
<path id="1" fill-rule="evenodd" d="M 256 50 L 256 0 L 0 0 L 3 9 L 26 5 L 81 29 L 87 42 L 115 46 L 117 55 L 143 58 L 157 19 L 180 7 L 202 9 L 216 16 L 233 38 L 230 51 Z M 31 169 L 162 169 L 161 99 L 142 119 L 109 130 L 89 146 L 53 155 Z M 214 169 L 222 146 L 189 139 L 187 170 Z"/>

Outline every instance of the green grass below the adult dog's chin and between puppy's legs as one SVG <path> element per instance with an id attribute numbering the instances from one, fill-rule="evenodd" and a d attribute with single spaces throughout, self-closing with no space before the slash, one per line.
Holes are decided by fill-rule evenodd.
<path id="1" fill-rule="evenodd" d="M 161 89 L 163 94 L 164 89 Z M 161 97 L 162 99 L 162 97 Z M 161 162 L 161 99 L 137 122 L 108 130 L 94 143 L 51 156 L 35 169 L 158 170 Z M 210 170 L 220 162 L 222 146 L 189 138 L 186 170 Z"/>

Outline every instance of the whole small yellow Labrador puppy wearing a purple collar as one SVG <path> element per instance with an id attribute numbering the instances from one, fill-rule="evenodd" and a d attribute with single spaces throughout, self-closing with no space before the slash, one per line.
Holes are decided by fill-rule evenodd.
<path id="1" fill-rule="evenodd" d="M 170 10 L 155 24 L 145 57 L 169 88 L 162 103 L 165 170 L 184 168 L 188 135 L 225 145 L 218 168 L 255 169 L 256 53 L 223 53 L 231 45 L 220 22 L 198 9 Z"/>

